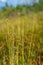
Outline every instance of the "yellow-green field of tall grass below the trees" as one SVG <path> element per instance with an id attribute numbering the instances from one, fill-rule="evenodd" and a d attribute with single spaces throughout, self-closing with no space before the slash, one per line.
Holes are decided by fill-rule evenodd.
<path id="1" fill-rule="evenodd" d="M 0 65 L 37 65 L 43 52 L 43 15 L 0 19 Z"/>

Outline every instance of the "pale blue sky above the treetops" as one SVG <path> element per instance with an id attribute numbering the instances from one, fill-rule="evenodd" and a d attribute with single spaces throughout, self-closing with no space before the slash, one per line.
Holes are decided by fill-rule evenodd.
<path id="1" fill-rule="evenodd" d="M 36 0 L 38 1 L 38 0 Z M 0 0 L 0 7 L 5 6 L 5 3 L 8 3 L 9 5 L 12 4 L 13 6 L 16 6 L 17 4 L 31 4 L 32 0 Z"/>

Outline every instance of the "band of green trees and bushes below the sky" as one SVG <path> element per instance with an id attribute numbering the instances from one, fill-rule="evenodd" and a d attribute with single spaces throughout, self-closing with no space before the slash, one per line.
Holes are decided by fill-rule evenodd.
<path id="1" fill-rule="evenodd" d="M 33 0 L 32 3 L 32 5 L 17 5 L 16 7 L 13 7 L 12 5 L 9 6 L 6 3 L 5 7 L 2 7 L 2 9 L 0 10 L 0 18 L 8 18 L 25 14 L 29 15 L 30 12 L 43 11 L 43 0 L 39 0 L 39 2 Z"/>

